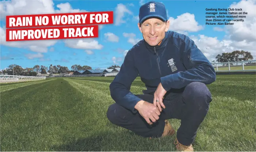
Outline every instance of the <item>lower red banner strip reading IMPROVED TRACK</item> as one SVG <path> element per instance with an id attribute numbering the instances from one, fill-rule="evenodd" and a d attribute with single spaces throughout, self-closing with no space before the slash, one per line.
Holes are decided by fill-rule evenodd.
<path id="1" fill-rule="evenodd" d="M 6 29 L 6 41 L 98 37 L 98 25 Z"/>

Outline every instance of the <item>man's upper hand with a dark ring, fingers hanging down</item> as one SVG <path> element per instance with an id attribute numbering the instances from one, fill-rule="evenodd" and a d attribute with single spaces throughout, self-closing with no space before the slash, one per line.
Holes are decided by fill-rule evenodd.
<path id="1" fill-rule="evenodd" d="M 159 111 L 162 112 L 162 108 L 165 108 L 165 105 L 163 104 L 163 99 L 164 99 L 164 95 L 167 91 L 165 91 L 165 89 L 163 88 L 162 84 L 160 83 L 154 93 L 154 100 L 153 100 L 153 104 L 154 106 L 157 106 Z M 156 100 L 158 100 L 159 102 L 156 102 Z"/>

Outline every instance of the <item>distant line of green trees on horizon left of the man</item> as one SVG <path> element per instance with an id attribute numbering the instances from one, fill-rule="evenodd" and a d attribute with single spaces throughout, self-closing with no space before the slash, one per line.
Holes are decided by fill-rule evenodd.
<path id="1" fill-rule="evenodd" d="M 114 68 L 120 68 L 119 65 L 112 65 L 108 67 L 108 69 L 114 69 Z M 13 69 L 13 70 L 12 70 Z M 87 70 L 92 69 L 92 67 L 88 65 L 77 65 L 74 64 L 71 66 L 71 70 L 68 69 L 68 67 L 61 66 L 61 65 L 53 65 L 53 74 L 68 74 L 70 72 L 75 72 L 79 70 Z M 22 68 L 20 65 L 17 64 L 11 64 L 6 69 L 1 70 L 0 73 L 7 73 L 7 75 L 16 75 L 16 76 L 36 76 L 38 74 L 47 74 L 50 73 L 50 66 L 44 66 L 44 65 L 35 65 L 31 68 Z"/>

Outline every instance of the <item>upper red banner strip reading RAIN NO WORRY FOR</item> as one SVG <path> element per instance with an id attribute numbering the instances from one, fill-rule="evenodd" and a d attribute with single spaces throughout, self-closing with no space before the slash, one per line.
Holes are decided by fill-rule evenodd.
<path id="1" fill-rule="evenodd" d="M 113 11 L 6 16 L 6 28 L 112 24 Z"/>

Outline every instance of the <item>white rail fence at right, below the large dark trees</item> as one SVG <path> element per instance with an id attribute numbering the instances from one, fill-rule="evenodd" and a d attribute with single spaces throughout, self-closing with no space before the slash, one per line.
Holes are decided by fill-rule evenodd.
<path id="1" fill-rule="evenodd" d="M 256 72 L 256 60 L 212 63 L 215 72 Z"/>

